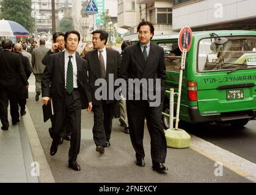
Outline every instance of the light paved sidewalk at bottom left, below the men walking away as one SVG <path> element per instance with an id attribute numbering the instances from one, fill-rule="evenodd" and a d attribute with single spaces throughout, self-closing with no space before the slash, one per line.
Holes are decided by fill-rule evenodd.
<path id="1" fill-rule="evenodd" d="M 0 131 L 0 183 L 38 183 L 33 162 L 23 119 L 15 126 L 10 122 L 9 130 Z"/>

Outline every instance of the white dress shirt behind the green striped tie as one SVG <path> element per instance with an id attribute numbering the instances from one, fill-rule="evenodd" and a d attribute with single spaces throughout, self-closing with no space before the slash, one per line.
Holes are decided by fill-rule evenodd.
<path id="1" fill-rule="evenodd" d="M 70 54 L 68 54 L 67 50 L 65 50 L 65 88 L 67 83 L 67 69 L 68 69 L 68 61 Z M 76 66 L 76 53 L 72 54 L 71 62 L 73 65 L 73 87 L 78 88 L 78 69 Z"/>

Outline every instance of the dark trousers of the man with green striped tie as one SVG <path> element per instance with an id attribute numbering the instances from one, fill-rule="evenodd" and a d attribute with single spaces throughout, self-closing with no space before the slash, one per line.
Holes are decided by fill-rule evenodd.
<path id="1" fill-rule="evenodd" d="M 53 105 L 54 107 L 54 105 Z M 68 161 L 74 162 L 80 151 L 81 143 L 81 101 L 78 90 L 71 94 L 65 92 L 65 105 L 60 110 L 54 110 L 53 116 L 53 144 L 59 143 L 60 134 L 63 132 L 66 122 L 71 127 L 70 149 L 68 151 Z"/>

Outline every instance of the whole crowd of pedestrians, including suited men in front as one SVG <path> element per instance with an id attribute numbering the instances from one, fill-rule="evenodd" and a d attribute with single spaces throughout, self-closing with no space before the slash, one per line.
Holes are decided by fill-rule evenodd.
<path id="1" fill-rule="evenodd" d="M 106 46 L 108 32 L 104 30 L 92 32 L 92 47 L 86 44 L 80 55 L 77 52 L 80 34 L 76 30 L 65 34 L 55 32 L 51 49 L 46 48 L 43 39 L 38 41 L 38 46 L 37 41 L 33 41 L 30 47 L 24 42 L 12 44 L 9 39 L 3 40 L 0 47 L 1 129 L 9 129 L 9 102 L 13 125 L 20 122 L 20 116 L 26 115 L 27 80 L 33 73 L 35 101 L 39 101 L 42 96 L 42 103 L 51 109 L 51 156 L 56 154 L 64 140 L 70 141 L 68 167 L 75 171 L 81 170 L 76 158 L 81 143 L 81 110 L 87 109 L 93 112 L 93 140 L 99 155 L 104 155 L 105 148 L 111 146 L 112 119 L 119 118 L 123 132 L 130 134 L 135 164 L 144 167 L 146 119 L 151 139 L 152 169 L 167 171 L 164 165 L 166 137 L 161 124 L 166 87 L 164 50 L 151 42 L 154 35 L 152 23 L 142 21 L 137 26 L 137 34 L 139 42 L 133 45 L 123 42 L 121 54 Z M 161 104 L 150 106 L 150 99 L 136 99 L 135 93 L 131 94 L 133 98 L 127 98 L 125 94 L 129 93 L 128 88 L 126 91 L 123 88 L 121 90 L 120 86 L 112 86 L 109 78 L 113 78 L 114 82 L 123 79 L 126 83 L 130 79 L 159 79 Z M 99 80 L 104 82 L 98 85 Z M 96 95 L 100 90 L 104 97 L 102 99 Z M 143 90 L 141 83 L 139 94 Z M 119 99 L 116 96 L 110 98 L 114 96 L 114 91 L 119 92 Z M 156 89 L 153 88 L 153 91 Z"/>

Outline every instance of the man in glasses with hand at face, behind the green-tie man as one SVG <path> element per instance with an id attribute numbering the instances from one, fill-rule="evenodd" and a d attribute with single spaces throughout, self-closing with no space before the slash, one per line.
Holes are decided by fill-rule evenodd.
<path id="1" fill-rule="evenodd" d="M 47 64 L 47 60 L 48 60 L 49 55 L 65 51 L 64 36 L 65 36 L 65 34 L 63 32 L 54 32 L 54 34 L 53 34 L 53 45 L 51 46 L 51 49 L 49 49 L 49 51 L 45 54 L 45 57 L 43 57 L 43 60 L 42 60 L 43 65 Z M 52 118 L 51 118 L 51 122 L 53 122 Z M 52 125 L 52 127 L 49 127 L 50 135 L 53 132 L 53 126 L 54 125 Z M 64 131 L 60 135 L 59 144 L 63 143 L 64 138 L 67 141 L 70 141 L 70 139 L 71 139 L 71 127 L 68 123 L 65 124 Z"/>

